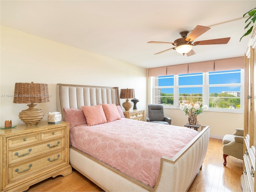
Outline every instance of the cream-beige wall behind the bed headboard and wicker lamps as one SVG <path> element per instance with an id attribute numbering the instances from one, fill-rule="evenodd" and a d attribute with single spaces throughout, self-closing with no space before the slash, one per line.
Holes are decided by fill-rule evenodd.
<path id="1" fill-rule="evenodd" d="M 56 111 L 56 84 L 134 88 L 138 108 L 146 108 L 146 69 L 1 26 L 0 126 L 18 118 L 26 104 L 14 104 L 16 82 L 48 84 L 50 102 L 38 104 L 46 114 Z M 121 100 L 124 102 L 125 100 Z"/>

